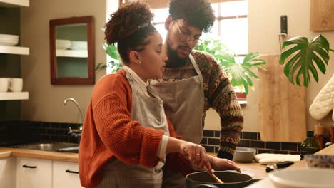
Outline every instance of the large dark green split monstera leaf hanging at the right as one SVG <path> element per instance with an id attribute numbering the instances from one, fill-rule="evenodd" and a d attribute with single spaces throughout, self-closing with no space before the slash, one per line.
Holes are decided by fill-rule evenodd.
<path id="1" fill-rule="evenodd" d="M 321 73 L 326 72 L 328 65 L 329 51 L 333 51 L 329 47 L 327 39 L 320 35 L 308 42 L 308 38 L 295 37 L 288 41 L 284 41 L 282 48 L 294 45 L 293 47 L 283 51 L 280 55 L 280 64 L 284 64 L 288 57 L 290 59 L 284 66 L 284 73 L 291 83 L 300 85 L 300 76 L 303 75 L 303 85 L 308 87 L 310 83 L 310 73 L 316 82 L 319 80 L 317 68 Z"/>

